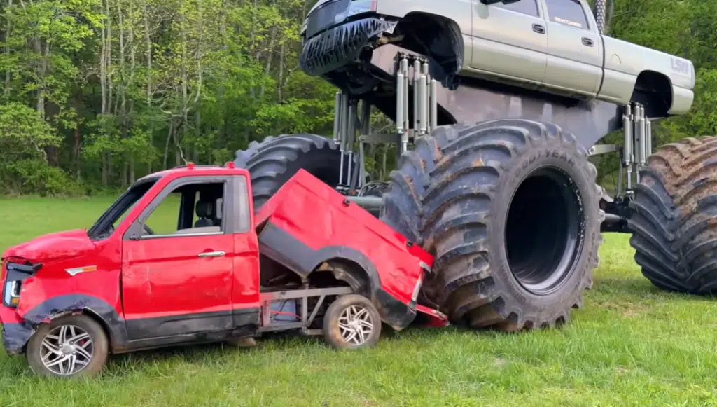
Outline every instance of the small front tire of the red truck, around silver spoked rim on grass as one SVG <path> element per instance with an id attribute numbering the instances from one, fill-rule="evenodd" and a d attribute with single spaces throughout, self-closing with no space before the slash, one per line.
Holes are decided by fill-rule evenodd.
<path id="1" fill-rule="evenodd" d="M 82 368 L 76 370 L 75 373 L 71 374 L 57 373 L 48 368 L 42 361 L 41 350 L 47 349 L 42 345 L 43 339 L 50 332 L 56 332 L 57 328 L 61 328 L 63 326 L 71 326 L 73 327 L 72 329 L 82 329 L 83 331 L 85 331 L 85 333 L 87 333 L 87 335 L 89 335 L 90 339 L 92 340 L 92 350 L 91 352 L 89 352 L 91 355 L 90 361 Z M 60 331 L 57 332 L 59 333 Z M 59 338 L 60 335 L 57 335 L 57 337 Z M 61 348 L 58 349 L 61 350 Z M 86 351 L 87 350 L 85 349 L 85 352 Z M 35 330 L 32 337 L 30 337 L 30 340 L 27 342 L 26 353 L 27 363 L 29 367 L 37 375 L 57 378 L 77 378 L 85 376 L 94 376 L 100 373 L 103 366 L 105 365 L 105 361 L 107 360 L 107 356 L 109 353 L 109 345 L 105 330 L 100 324 L 98 324 L 98 322 L 95 322 L 94 319 L 87 317 L 87 315 L 77 314 L 67 315 L 65 317 L 53 319 L 48 324 L 40 324 L 37 327 L 37 330 Z M 77 353 L 79 354 L 80 352 Z M 59 363 L 58 365 L 64 366 L 65 363 Z"/>

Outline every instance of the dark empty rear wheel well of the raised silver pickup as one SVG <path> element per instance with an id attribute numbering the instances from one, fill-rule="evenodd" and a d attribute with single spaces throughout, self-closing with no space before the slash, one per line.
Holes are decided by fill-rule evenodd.
<path id="1" fill-rule="evenodd" d="M 667 117 L 673 102 L 670 78 L 652 70 L 640 72 L 630 100 L 645 106 L 648 117 Z"/>

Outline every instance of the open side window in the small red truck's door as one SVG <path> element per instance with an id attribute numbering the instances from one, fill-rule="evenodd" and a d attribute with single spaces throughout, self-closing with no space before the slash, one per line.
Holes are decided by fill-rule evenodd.
<path id="1" fill-rule="evenodd" d="M 144 235 L 221 233 L 224 182 L 184 184 L 166 196 L 144 221 Z"/>

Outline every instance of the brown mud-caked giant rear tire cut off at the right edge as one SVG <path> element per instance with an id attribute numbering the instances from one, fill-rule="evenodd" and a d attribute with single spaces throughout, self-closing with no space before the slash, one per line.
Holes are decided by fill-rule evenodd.
<path id="1" fill-rule="evenodd" d="M 717 137 L 657 149 L 640 170 L 627 225 L 635 262 L 668 291 L 717 291 Z"/>

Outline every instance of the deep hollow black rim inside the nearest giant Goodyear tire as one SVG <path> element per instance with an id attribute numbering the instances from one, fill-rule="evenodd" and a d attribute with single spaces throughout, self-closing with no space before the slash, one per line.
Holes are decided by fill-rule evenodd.
<path id="1" fill-rule="evenodd" d="M 573 179 L 540 167 L 523 179 L 505 219 L 508 266 L 523 289 L 554 293 L 576 268 L 585 235 L 584 202 Z"/>

